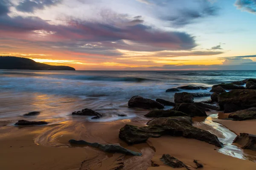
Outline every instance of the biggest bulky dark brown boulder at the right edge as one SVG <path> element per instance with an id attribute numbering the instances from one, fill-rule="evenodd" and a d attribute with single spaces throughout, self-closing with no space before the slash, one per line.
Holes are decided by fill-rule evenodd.
<path id="1" fill-rule="evenodd" d="M 221 110 L 224 110 L 225 104 L 236 106 L 236 110 L 232 112 L 256 107 L 256 91 L 244 89 L 225 92 L 218 96 L 218 102 Z"/>

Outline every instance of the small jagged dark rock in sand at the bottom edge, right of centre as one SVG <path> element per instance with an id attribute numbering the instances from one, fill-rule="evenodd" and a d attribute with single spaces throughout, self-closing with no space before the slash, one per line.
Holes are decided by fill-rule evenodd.
<path id="1" fill-rule="evenodd" d="M 186 164 L 176 159 L 175 157 L 170 156 L 169 154 L 163 154 L 162 158 L 160 158 L 160 161 L 163 161 L 163 163 L 168 165 L 169 167 L 173 167 L 173 168 L 186 167 L 189 170 Z"/>

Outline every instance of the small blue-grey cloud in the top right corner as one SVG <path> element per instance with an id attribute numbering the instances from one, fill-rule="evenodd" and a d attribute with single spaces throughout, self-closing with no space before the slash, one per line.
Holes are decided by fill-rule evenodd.
<path id="1" fill-rule="evenodd" d="M 241 11 L 256 14 L 256 0 L 236 0 L 235 6 Z"/>

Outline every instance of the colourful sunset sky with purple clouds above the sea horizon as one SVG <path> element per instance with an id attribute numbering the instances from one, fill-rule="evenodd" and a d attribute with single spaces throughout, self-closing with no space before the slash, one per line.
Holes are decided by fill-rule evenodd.
<path id="1" fill-rule="evenodd" d="M 0 0 L 0 56 L 76 70 L 256 70 L 256 0 Z"/>

